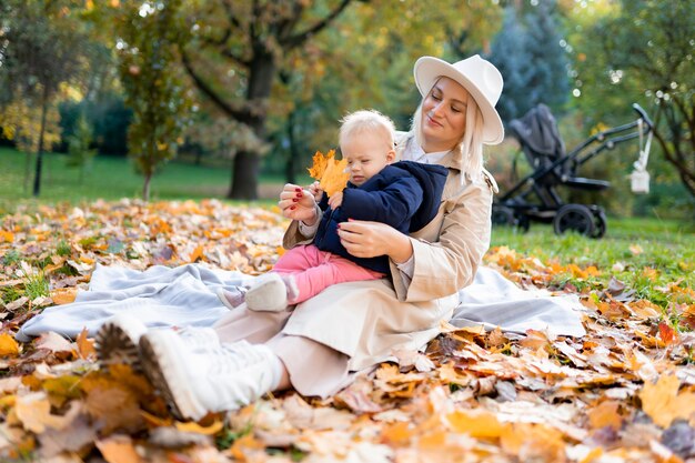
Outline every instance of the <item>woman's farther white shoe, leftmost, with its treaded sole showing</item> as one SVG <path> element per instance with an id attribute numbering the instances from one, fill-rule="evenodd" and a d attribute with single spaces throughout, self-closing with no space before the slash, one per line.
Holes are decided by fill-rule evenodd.
<path id="1" fill-rule="evenodd" d="M 148 328 L 132 315 L 121 313 L 107 320 L 94 336 L 97 358 L 102 365 L 124 363 L 140 371 L 138 342 Z"/>

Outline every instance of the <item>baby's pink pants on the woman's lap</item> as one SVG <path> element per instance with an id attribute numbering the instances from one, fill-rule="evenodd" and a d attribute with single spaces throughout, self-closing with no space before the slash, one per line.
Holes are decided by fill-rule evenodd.
<path id="1" fill-rule="evenodd" d="M 365 269 L 345 258 L 321 251 L 313 244 L 300 245 L 285 252 L 275 263 L 273 272 L 292 275 L 299 289 L 299 295 L 288 301 L 298 304 L 332 284 L 349 281 L 379 280 L 383 273 Z"/>

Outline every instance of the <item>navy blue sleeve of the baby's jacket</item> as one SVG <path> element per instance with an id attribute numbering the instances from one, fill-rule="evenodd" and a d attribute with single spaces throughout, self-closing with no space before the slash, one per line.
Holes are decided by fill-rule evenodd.
<path id="1" fill-rule="evenodd" d="M 400 228 L 417 211 L 422 195 L 422 187 L 413 177 L 399 178 L 377 191 L 345 189 L 340 219 L 372 220 Z"/>

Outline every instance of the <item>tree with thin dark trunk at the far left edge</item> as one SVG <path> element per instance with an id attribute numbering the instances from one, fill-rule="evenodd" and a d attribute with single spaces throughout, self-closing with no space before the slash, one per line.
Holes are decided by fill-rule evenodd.
<path id="1" fill-rule="evenodd" d="M 20 148 L 36 149 L 34 197 L 43 151 L 57 141 L 57 98 L 84 68 L 87 38 L 72 7 L 68 0 L 8 0 L 0 7 L 0 125 L 18 137 Z"/>

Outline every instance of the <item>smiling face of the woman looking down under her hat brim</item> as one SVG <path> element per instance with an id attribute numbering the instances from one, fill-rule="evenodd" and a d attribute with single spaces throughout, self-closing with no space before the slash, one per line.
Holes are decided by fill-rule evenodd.
<path id="1" fill-rule="evenodd" d="M 440 78 L 422 103 L 422 135 L 430 151 L 451 150 L 463 137 L 469 92 L 450 78 Z M 424 148 L 424 147 L 423 147 Z"/>

